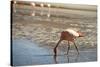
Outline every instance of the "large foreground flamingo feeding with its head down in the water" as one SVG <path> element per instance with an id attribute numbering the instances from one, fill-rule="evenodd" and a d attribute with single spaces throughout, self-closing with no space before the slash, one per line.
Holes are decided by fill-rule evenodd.
<path id="1" fill-rule="evenodd" d="M 83 37 L 83 36 L 84 35 L 82 32 L 77 32 L 77 31 L 74 31 L 73 29 L 66 29 L 65 31 L 62 31 L 61 36 L 60 36 L 60 40 L 58 41 L 57 45 L 54 47 L 54 53 L 55 53 L 54 56 L 57 55 L 57 47 L 61 43 L 61 41 L 63 41 L 63 40 L 68 41 L 67 55 L 68 55 L 68 52 L 70 49 L 70 42 L 72 42 L 75 45 L 77 53 L 79 54 L 78 48 L 75 44 L 75 39 L 78 37 Z"/>

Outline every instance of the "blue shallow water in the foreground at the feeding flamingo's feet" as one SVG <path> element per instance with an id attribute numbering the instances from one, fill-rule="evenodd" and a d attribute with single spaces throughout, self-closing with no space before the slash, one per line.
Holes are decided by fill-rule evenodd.
<path id="1" fill-rule="evenodd" d="M 96 49 L 80 51 L 79 55 L 74 50 L 70 50 L 68 56 L 58 50 L 61 53 L 58 52 L 58 55 L 54 57 L 53 49 L 39 47 L 39 44 L 26 39 L 14 39 L 12 46 L 14 66 L 89 62 L 97 60 Z"/>

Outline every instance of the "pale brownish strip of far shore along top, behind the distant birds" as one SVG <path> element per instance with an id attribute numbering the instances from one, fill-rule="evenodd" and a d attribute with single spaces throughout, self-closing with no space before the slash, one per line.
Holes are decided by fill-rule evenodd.
<path id="1" fill-rule="evenodd" d="M 32 1 L 17 1 L 17 4 L 20 5 L 31 5 Z M 63 4 L 63 3 L 49 3 L 49 2 L 33 2 L 39 6 L 43 3 L 47 7 L 47 4 L 51 4 L 50 8 L 62 8 L 62 9 L 71 9 L 71 10 L 85 10 L 85 11 L 97 11 L 97 5 L 86 5 L 86 4 Z"/>

